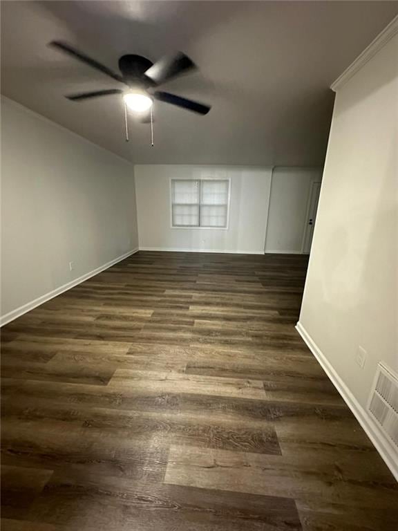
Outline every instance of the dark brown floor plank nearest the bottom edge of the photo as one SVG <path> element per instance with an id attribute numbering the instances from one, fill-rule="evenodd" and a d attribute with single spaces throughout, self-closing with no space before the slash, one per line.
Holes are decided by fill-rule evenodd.
<path id="1" fill-rule="evenodd" d="M 87 523 L 100 529 L 108 523 L 110 528 L 122 530 L 301 529 L 296 507 L 289 499 L 231 496 L 222 491 L 61 471 L 54 474 L 29 516 L 32 521 L 61 522 L 79 529 Z"/>

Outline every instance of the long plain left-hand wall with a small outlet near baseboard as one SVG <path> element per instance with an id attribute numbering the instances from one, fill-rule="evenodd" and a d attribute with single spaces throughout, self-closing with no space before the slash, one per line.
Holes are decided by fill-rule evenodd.
<path id="1" fill-rule="evenodd" d="M 136 248 L 138 233 L 129 162 L 6 98 L 1 113 L 4 317 Z"/>

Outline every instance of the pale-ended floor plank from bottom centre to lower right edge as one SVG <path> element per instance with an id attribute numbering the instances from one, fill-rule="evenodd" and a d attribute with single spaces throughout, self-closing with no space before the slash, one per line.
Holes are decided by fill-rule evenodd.
<path id="1" fill-rule="evenodd" d="M 397 515 L 397 488 L 390 478 L 379 485 L 372 481 L 350 481 L 338 475 L 319 473 L 313 463 L 300 456 L 266 456 L 236 451 L 172 445 L 165 483 L 218 489 L 222 485 L 237 492 L 292 497 L 296 501 L 340 503 L 375 507 Z"/>

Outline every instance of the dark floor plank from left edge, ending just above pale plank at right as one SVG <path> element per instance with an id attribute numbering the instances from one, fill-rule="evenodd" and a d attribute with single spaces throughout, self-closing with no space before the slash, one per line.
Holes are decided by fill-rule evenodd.
<path id="1" fill-rule="evenodd" d="M 4 400 L 2 414 L 6 418 L 5 440 L 17 422 L 35 422 L 37 428 L 46 429 L 46 423 L 64 422 L 70 431 L 79 430 L 85 441 L 98 433 L 104 437 L 115 436 L 120 442 L 142 443 L 151 441 L 157 447 L 171 443 L 209 448 L 228 448 L 236 451 L 251 451 L 260 454 L 281 454 L 274 424 L 265 420 L 211 420 L 204 414 L 192 416 L 187 413 L 131 411 L 120 409 L 92 408 L 86 404 L 59 402 L 48 405 L 46 400 L 35 401 L 30 407 L 29 398 L 21 398 L 18 404 Z M 99 431 L 100 430 L 100 431 Z M 117 445 L 115 445 L 117 447 Z"/>

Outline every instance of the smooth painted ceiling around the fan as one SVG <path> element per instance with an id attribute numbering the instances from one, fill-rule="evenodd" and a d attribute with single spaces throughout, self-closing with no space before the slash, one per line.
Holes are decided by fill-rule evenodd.
<path id="1" fill-rule="evenodd" d="M 135 162 L 320 165 L 332 81 L 398 12 L 384 1 L 2 1 L 1 92 Z M 118 86 L 47 48 L 59 39 L 117 70 L 124 53 L 187 53 L 199 73 L 162 86 L 213 106 L 155 104 L 124 141 L 121 98 L 63 95 Z"/>

